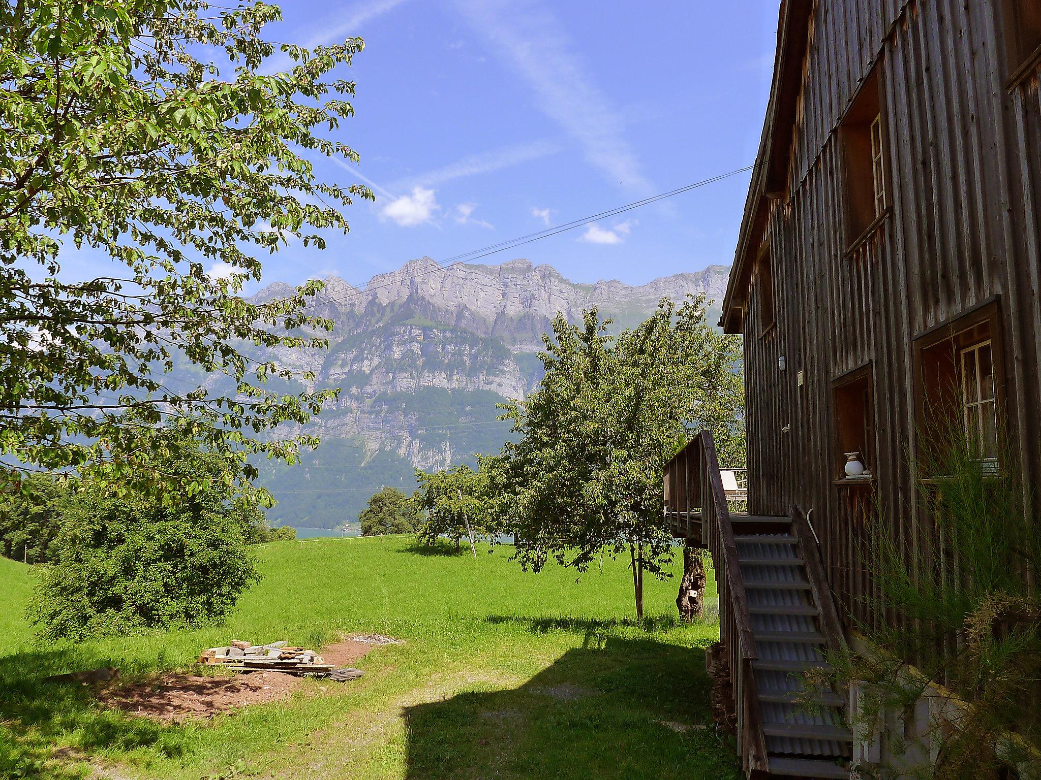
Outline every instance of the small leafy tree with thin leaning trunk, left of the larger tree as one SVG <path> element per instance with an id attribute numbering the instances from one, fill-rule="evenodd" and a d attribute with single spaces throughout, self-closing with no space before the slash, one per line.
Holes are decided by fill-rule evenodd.
<path id="1" fill-rule="evenodd" d="M 475 540 L 494 538 L 498 504 L 491 492 L 490 463 L 481 459 L 477 471 L 465 464 L 433 473 L 416 470 L 415 501 L 427 513 L 416 531 L 420 542 L 433 545 L 443 536 L 458 550 L 460 541 L 466 539 L 476 557 Z"/>

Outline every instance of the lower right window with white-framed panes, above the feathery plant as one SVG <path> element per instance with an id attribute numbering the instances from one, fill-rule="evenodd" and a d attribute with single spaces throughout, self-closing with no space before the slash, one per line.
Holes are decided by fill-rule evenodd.
<path id="1" fill-rule="evenodd" d="M 967 441 L 993 469 L 1002 392 L 998 321 L 996 304 L 990 304 L 916 344 L 923 427 L 943 435 L 959 420 Z"/>

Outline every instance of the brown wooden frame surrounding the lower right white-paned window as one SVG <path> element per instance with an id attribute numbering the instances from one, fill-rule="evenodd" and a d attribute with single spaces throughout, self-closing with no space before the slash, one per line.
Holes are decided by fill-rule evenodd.
<path id="1" fill-rule="evenodd" d="M 962 346 L 957 344 L 956 340 L 959 336 L 985 322 L 989 327 L 989 336 L 987 338 L 971 341 Z M 961 365 L 963 353 L 967 349 L 980 347 L 984 343 L 990 343 L 991 370 L 994 381 L 994 414 L 995 418 L 1000 422 L 1001 411 L 1007 408 L 1007 382 L 1005 372 L 1004 319 L 1001 317 L 1000 298 L 994 295 L 986 301 L 982 301 L 961 314 L 925 329 L 913 337 L 915 420 L 917 425 L 920 427 L 925 421 L 926 383 L 923 355 L 926 350 L 945 341 L 951 342 L 951 350 L 955 355 L 958 370 L 956 379 L 962 389 L 964 389 L 964 371 Z M 962 424 L 965 424 L 966 411 L 964 407 L 957 411 L 962 418 Z M 998 452 L 996 461 L 995 471 L 1000 469 L 1000 452 Z"/>

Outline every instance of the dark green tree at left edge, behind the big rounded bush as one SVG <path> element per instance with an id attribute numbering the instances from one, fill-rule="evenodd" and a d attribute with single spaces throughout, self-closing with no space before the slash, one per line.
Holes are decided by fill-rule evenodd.
<path id="1" fill-rule="evenodd" d="M 27 564 L 47 563 L 61 517 L 76 501 L 74 485 L 67 477 L 32 474 L 20 490 L 0 495 L 0 553 Z"/>

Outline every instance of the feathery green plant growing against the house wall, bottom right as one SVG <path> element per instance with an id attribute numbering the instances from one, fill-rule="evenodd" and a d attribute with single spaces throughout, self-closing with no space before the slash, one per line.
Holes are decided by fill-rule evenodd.
<path id="1" fill-rule="evenodd" d="M 855 729 L 904 724 L 861 777 L 1041 777 L 1041 515 L 1010 447 L 995 467 L 973 426 L 926 418 L 914 467 L 933 538 L 912 546 L 879 520 L 867 560 L 888 620 L 860 626 L 871 650 L 832 659 Z"/>

